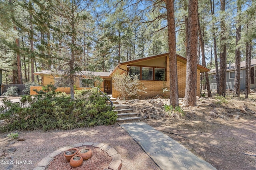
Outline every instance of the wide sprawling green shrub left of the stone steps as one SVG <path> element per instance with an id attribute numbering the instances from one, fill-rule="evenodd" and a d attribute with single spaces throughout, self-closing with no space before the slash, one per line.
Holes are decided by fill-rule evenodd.
<path id="1" fill-rule="evenodd" d="M 7 125 L 0 130 L 49 131 L 53 129 L 75 129 L 95 125 L 110 125 L 116 122 L 116 112 L 110 111 L 106 98 L 93 90 L 77 92 L 75 100 L 69 95 L 41 91 L 37 96 L 22 96 L 21 102 L 3 100 L 0 119 Z M 90 94 L 90 95 L 88 95 Z M 88 95 L 88 96 L 87 96 Z"/>

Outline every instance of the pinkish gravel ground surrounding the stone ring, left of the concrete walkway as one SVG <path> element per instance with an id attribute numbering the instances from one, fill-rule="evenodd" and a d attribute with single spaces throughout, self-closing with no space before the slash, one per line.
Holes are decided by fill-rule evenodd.
<path id="1" fill-rule="evenodd" d="M 100 142 L 114 147 L 122 156 L 121 170 L 159 170 L 158 166 L 119 125 L 69 131 L 21 132 L 19 137 L 25 141 L 10 140 L 6 135 L 0 133 L 0 160 L 14 160 L 15 164 L 1 165 L 1 170 L 8 167 L 15 170 L 32 170 L 40 160 L 55 150 L 82 142 Z M 13 147 L 17 149 L 15 152 L 11 152 Z M 20 160 L 27 160 L 27 164 L 16 164 L 16 161 Z"/>

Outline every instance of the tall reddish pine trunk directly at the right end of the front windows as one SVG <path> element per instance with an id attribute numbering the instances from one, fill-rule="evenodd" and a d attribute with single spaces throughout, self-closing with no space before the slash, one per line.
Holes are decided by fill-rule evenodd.
<path id="1" fill-rule="evenodd" d="M 170 104 L 172 106 L 179 106 L 174 0 L 165 0 L 165 2 L 166 2 L 167 24 L 168 24 Z"/>

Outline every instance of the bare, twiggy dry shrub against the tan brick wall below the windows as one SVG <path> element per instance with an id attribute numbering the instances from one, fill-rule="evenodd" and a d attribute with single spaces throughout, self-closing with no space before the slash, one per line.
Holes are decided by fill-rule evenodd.
<path id="1" fill-rule="evenodd" d="M 143 87 L 138 79 L 138 75 L 129 74 L 114 74 L 112 77 L 114 88 L 120 92 L 123 100 L 129 100 L 130 98 L 139 97 L 140 92 L 147 93 L 147 88 Z"/>

